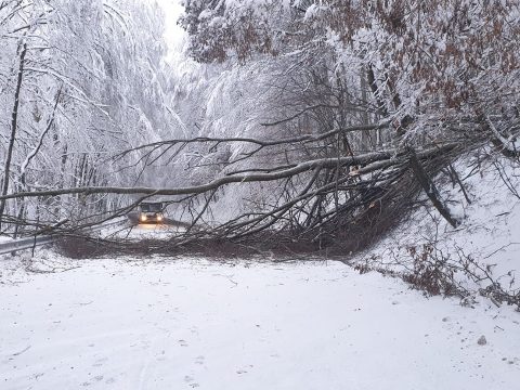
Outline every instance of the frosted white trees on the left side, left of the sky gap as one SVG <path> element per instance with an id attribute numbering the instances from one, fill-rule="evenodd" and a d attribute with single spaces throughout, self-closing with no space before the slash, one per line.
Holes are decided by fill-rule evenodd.
<path id="1" fill-rule="evenodd" d="M 0 3 L 2 195 L 133 185 L 113 156 L 169 135 L 161 10 L 141 1 Z M 2 230 L 117 208 L 117 197 L 0 202 Z M 40 222 L 41 221 L 41 222 Z"/>

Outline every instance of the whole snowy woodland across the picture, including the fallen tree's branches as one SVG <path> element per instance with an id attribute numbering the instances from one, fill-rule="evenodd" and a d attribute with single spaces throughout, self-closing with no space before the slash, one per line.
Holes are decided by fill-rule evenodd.
<path id="1" fill-rule="evenodd" d="M 1 230 L 166 200 L 205 239 L 358 250 L 518 161 L 516 0 L 184 0 L 183 55 L 139 0 L 0 3 Z M 260 239 L 261 238 L 261 239 Z"/>

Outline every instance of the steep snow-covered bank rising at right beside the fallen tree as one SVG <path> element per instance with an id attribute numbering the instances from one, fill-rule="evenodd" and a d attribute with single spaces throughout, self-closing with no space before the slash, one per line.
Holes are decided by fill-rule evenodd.
<path id="1" fill-rule="evenodd" d="M 470 258 L 504 288 L 518 290 L 520 281 L 515 276 L 520 276 L 520 167 L 499 157 L 481 160 L 479 169 L 474 166 L 470 159 L 455 166 L 470 203 L 459 185 L 441 186 L 442 198 L 461 222 L 459 226 L 452 227 L 426 200 L 427 207 L 418 209 L 408 222 L 354 261 L 408 272 L 413 269 L 410 248 L 422 255 L 424 246 L 430 245 L 435 247 L 433 255 L 439 259 L 457 264 L 460 257 Z M 472 290 L 490 284 L 487 280 L 471 283 L 461 274 L 455 276 Z"/>

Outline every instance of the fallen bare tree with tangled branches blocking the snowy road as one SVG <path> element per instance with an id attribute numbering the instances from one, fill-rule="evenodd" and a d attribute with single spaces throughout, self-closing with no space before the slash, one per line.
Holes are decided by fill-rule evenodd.
<path id="1" fill-rule="evenodd" d="M 247 142 L 265 148 L 277 147 L 281 144 L 284 147 L 287 144 L 309 147 L 309 143 L 315 145 L 324 140 L 334 140 L 336 135 L 337 131 L 326 136 L 300 136 L 282 141 L 193 139 L 182 142 L 170 141 L 169 144 L 164 142 L 160 146 L 195 142 L 205 144 Z M 144 145 L 126 154 L 142 150 L 152 153 L 151 151 L 157 151 L 158 145 Z M 420 191 L 413 169 L 416 164 L 434 173 L 450 164 L 459 150 L 458 142 L 451 142 L 420 150 L 393 148 L 356 156 L 313 158 L 283 166 L 269 165 L 231 173 L 224 172 L 220 178 L 207 183 L 171 188 L 86 186 L 20 192 L 0 196 L 0 200 L 25 198 L 41 203 L 42 199 L 49 202 L 56 197 L 74 196 L 75 199 L 82 199 L 84 203 L 84 199 L 100 195 L 134 197 L 122 207 L 77 219 L 53 221 L 39 217 L 36 220 L 22 221 L 15 216 L 2 216 L 2 219 L 11 224 L 23 223 L 26 231 L 32 227 L 28 230 L 31 235 L 74 236 L 84 227 L 128 214 L 144 199 L 160 196 L 169 199 L 166 200 L 169 206 L 180 205 L 185 210 L 184 214 L 188 216 L 188 221 L 185 221 L 187 229 L 172 235 L 170 248 L 185 247 L 196 242 L 210 245 L 211 242 L 208 240 L 212 240 L 213 244 L 216 240 L 229 240 L 247 243 L 249 246 L 255 243 L 253 246 L 261 248 L 284 246 L 306 250 L 328 250 L 335 247 L 340 251 L 353 251 L 369 245 L 381 232 L 405 217 L 407 208 L 415 202 Z M 250 159 L 253 158 L 253 154 L 245 152 L 242 157 Z M 211 213 L 219 191 L 225 191 L 233 185 L 261 182 L 277 183 L 280 186 L 278 197 L 273 204 L 238 212 L 225 221 L 217 223 L 208 221 L 207 216 Z M 73 203 L 73 208 L 74 206 Z M 164 248 L 164 243 L 160 246 Z"/>

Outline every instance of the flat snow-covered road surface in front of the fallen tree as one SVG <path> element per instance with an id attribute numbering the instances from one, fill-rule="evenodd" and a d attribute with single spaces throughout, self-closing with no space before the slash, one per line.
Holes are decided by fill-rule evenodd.
<path id="1" fill-rule="evenodd" d="M 17 265 L 0 263 L 2 390 L 519 386 L 511 308 L 426 300 L 337 262 Z"/>

